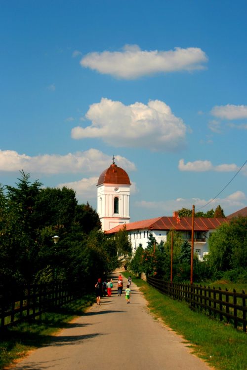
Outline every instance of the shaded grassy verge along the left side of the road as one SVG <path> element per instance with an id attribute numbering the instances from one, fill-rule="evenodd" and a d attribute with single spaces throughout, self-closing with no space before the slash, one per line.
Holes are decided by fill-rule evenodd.
<path id="1" fill-rule="evenodd" d="M 80 316 L 94 301 L 94 295 L 84 296 L 59 310 L 43 313 L 36 320 L 4 328 L 0 331 L 0 369 L 25 356 L 28 350 L 48 343 L 54 333 L 69 327 L 70 321 Z"/>

